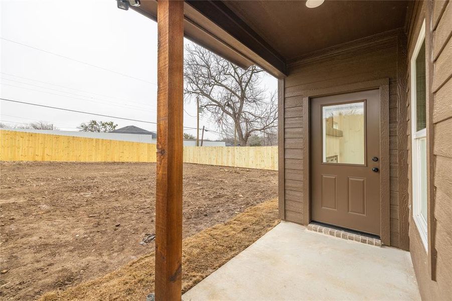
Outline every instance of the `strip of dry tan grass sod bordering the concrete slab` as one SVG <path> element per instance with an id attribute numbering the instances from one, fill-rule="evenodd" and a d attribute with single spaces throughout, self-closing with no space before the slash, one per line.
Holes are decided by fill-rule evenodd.
<path id="1" fill-rule="evenodd" d="M 187 291 L 243 251 L 279 220 L 277 200 L 250 207 L 224 224 L 184 239 L 182 290 Z M 154 252 L 119 269 L 64 291 L 45 293 L 41 301 L 139 300 L 154 291 Z"/>

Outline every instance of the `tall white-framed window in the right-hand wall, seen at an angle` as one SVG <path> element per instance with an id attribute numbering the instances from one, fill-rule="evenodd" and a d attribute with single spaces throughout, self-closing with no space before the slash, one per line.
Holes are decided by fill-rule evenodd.
<path id="1" fill-rule="evenodd" d="M 425 249 L 427 246 L 427 130 L 425 77 L 425 20 L 411 57 L 411 158 L 413 219 Z"/>

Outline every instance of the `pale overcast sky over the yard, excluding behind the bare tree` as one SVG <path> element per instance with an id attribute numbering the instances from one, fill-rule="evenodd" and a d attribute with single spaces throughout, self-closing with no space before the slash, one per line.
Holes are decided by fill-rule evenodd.
<path id="1" fill-rule="evenodd" d="M 105 1 L 1 1 L 2 98 L 137 120 L 157 120 L 157 23 Z M 185 43 L 191 43 L 185 40 Z M 262 85 L 277 89 L 265 75 Z M 185 104 L 184 126 L 196 127 L 196 104 Z M 118 127 L 155 124 L 97 117 L 1 101 L 1 120 L 48 121 L 78 130 L 90 119 Z M 190 116 L 192 115 L 192 116 Z M 200 126 L 216 130 L 202 116 Z M 196 130 L 184 129 L 196 134 Z M 207 138 L 218 138 L 213 132 Z"/>

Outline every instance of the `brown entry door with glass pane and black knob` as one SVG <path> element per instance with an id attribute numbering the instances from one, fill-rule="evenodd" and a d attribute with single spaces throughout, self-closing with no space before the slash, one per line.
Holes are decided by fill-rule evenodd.
<path id="1" fill-rule="evenodd" d="M 379 90 L 311 101 L 311 219 L 380 235 Z"/>

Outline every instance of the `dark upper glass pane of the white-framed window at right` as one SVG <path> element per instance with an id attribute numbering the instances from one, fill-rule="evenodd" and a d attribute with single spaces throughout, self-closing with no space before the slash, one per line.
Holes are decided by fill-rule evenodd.
<path id="1" fill-rule="evenodd" d="M 416 131 L 425 128 L 425 42 L 416 57 Z"/>

